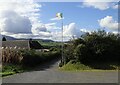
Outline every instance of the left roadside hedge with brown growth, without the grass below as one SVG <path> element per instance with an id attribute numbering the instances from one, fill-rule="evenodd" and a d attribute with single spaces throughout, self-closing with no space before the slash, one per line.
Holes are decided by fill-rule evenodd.
<path id="1" fill-rule="evenodd" d="M 59 58 L 60 51 L 37 52 L 35 50 L 2 49 L 2 62 L 23 66 L 35 66 Z"/>

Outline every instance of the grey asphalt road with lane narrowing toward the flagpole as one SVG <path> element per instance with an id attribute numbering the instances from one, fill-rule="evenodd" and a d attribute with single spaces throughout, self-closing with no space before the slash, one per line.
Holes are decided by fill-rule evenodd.
<path id="1" fill-rule="evenodd" d="M 3 78 L 3 83 L 118 83 L 117 71 L 63 72 L 58 63 L 53 60 L 33 71 Z"/>

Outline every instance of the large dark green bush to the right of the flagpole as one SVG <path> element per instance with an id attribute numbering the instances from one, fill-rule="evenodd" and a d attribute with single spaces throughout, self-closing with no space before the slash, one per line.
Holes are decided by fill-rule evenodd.
<path id="1" fill-rule="evenodd" d="M 119 59 L 120 36 L 99 30 L 86 33 L 65 45 L 62 65 L 74 60 L 93 69 L 117 69 L 111 65 L 119 66 Z"/>

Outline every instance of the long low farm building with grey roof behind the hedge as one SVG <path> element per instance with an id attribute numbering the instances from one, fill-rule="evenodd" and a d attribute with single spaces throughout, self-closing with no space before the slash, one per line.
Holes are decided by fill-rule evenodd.
<path id="1" fill-rule="evenodd" d="M 2 48 L 41 49 L 42 45 L 38 41 L 10 40 L 10 41 L 2 41 Z"/>

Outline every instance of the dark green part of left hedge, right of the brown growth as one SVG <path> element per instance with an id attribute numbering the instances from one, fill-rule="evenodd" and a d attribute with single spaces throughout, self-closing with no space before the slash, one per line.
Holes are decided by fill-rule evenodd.
<path id="1" fill-rule="evenodd" d="M 36 52 L 34 50 L 24 51 L 23 60 L 21 63 L 27 66 L 35 66 L 45 61 L 50 61 L 54 58 L 58 58 L 60 53 L 57 51 L 52 52 Z"/>

